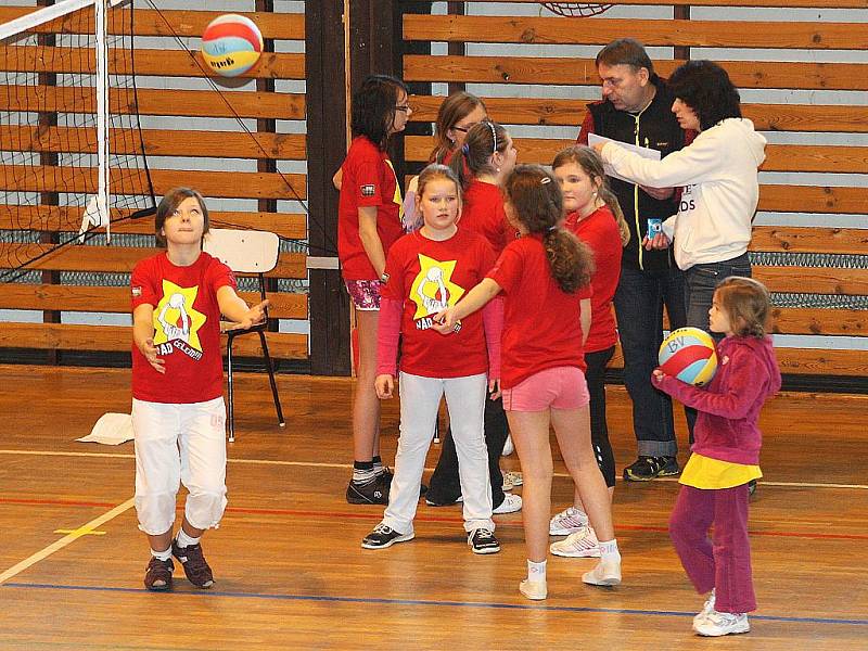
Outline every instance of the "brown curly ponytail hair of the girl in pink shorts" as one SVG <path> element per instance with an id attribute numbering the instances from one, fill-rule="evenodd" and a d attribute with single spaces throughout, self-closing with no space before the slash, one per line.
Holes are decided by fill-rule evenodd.
<path id="1" fill-rule="evenodd" d="M 516 166 L 503 184 L 514 217 L 528 233 L 542 235 L 551 276 L 567 294 L 590 284 L 593 252 L 561 228 L 563 194 L 554 177 L 541 165 Z"/>

